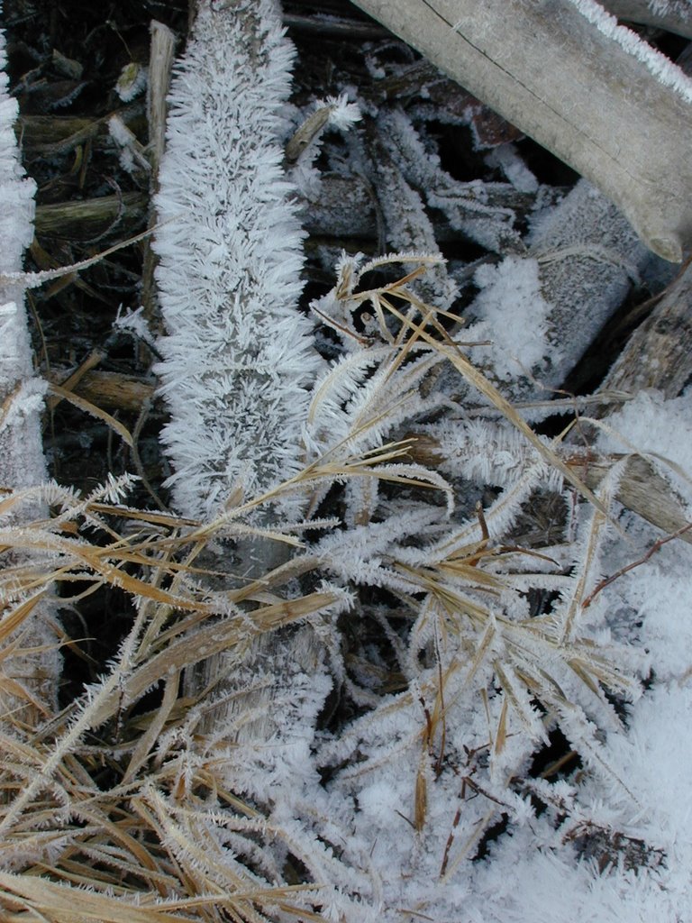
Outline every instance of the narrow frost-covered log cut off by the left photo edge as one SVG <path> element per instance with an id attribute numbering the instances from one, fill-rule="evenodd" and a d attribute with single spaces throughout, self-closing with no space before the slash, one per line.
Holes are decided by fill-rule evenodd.
<path id="1" fill-rule="evenodd" d="M 7 93 L 5 66 L 5 35 L 0 31 L 0 488 L 4 499 L 6 491 L 40 485 L 45 480 L 40 421 L 45 383 L 34 375 L 24 286 L 17 275 L 33 236 L 35 184 L 25 177 L 19 161 L 14 132 L 18 106 Z M 58 635 L 51 625 L 50 606 L 32 600 L 35 592 L 25 594 L 19 589 L 13 567 L 29 562 L 24 555 L 10 557 L 6 550 L 12 545 L 12 528 L 18 522 L 44 515 L 41 506 L 21 503 L 6 504 L 0 514 L 0 529 L 7 530 L 2 543 L 0 619 L 13 617 L 15 629 L 21 631 L 22 651 L 4 657 L 0 664 L 3 723 L 10 716 L 10 721 L 32 725 L 36 712 L 33 706 L 25 710 L 27 701 L 32 699 L 45 711 L 54 706 L 57 696 Z M 19 618 L 18 603 L 22 602 L 26 603 L 26 617 Z M 9 637 L 18 641 L 18 633 Z"/>

